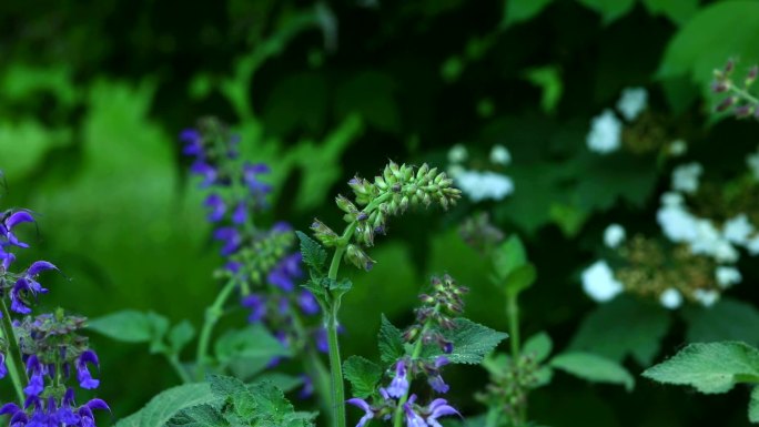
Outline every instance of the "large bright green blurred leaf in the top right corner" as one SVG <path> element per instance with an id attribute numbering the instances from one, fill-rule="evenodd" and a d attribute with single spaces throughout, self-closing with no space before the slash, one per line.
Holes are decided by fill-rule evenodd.
<path id="1" fill-rule="evenodd" d="M 689 75 L 708 92 L 712 70 L 722 68 L 729 58 L 759 58 L 757 28 L 759 2 L 722 1 L 705 7 L 669 41 L 657 73 L 661 78 Z"/>

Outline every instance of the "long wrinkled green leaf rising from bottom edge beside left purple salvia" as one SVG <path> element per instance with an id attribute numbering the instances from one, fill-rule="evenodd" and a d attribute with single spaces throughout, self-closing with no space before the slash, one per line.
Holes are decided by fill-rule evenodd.
<path id="1" fill-rule="evenodd" d="M 219 398 L 211 393 L 208 383 L 181 385 L 161 392 L 145 407 L 122 418 L 115 427 L 163 427 L 182 409 L 215 401 Z"/>

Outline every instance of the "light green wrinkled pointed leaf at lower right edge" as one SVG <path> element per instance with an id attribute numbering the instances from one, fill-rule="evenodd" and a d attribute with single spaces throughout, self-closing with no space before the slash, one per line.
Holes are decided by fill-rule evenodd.
<path id="1" fill-rule="evenodd" d="M 690 344 L 642 376 L 706 394 L 725 393 L 737 383 L 759 382 L 759 350 L 740 342 Z"/>

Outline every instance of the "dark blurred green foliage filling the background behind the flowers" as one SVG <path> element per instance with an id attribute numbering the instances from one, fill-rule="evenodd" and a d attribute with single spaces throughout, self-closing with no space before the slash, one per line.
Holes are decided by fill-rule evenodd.
<path id="1" fill-rule="evenodd" d="M 757 129 L 712 120 L 708 83 L 730 57 L 759 60 L 757 40 L 759 2 L 748 0 L 3 2 L 3 206 L 39 215 L 24 256 L 65 274 L 49 278 L 44 304 L 90 317 L 152 309 L 198 326 L 220 257 L 176 141 L 196 118 L 220 116 L 242 136 L 244 156 L 271 164 L 271 217 L 302 230 L 316 215 L 337 223 L 332 199 L 347 191 L 345 181 L 373 176 L 387 159 L 445 166 L 456 143 L 475 157 L 503 144 L 514 159 L 512 196 L 465 202 L 442 221 L 421 212 L 391 224 L 371 253 L 375 270 L 355 274 L 344 354 L 375 356 L 380 313 L 408 321 L 432 273 L 470 286 L 470 317 L 506 329 L 487 262 L 455 230 L 469 213 L 489 211 L 523 237 L 538 270 L 523 298 L 525 336 L 545 329 L 558 347 L 631 355 L 627 366 L 638 374 L 687 340 L 759 344 L 759 314 L 745 303 L 756 301 L 759 272 L 742 262 L 733 301 L 681 318 L 624 299 L 596 308 L 579 272 L 610 222 L 656 227 L 669 175 L 650 153 L 589 152 L 590 118 L 624 88 L 646 87 L 666 134 L 730 173 L 756 145 Z M 600 321 L 587 326 L 589 313 Z M 614 333 L 594 329 L 599 322 Z M 626 332 L 630 339 L 621 339 Z M 117 417 L 178 383 L 143 347 L 92 340 L 100 393 Z M 456 396 L 486 382 L 482 369 L 454 370 Z M 743 425 L 746 398 L 556 378 L 535 393 L 530 415 L 556 426 Z M 462 400 L 467 414 L 483 410 Z"/>

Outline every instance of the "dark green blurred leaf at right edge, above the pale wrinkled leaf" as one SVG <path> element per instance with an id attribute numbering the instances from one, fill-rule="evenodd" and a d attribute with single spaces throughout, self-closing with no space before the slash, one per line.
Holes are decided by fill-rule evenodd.
<path id="1" fill-rule="evenodd" d="M 722 298 L 711 307 L 685 307 L 686 338 L 691 343 L 742 340 L 759 345 L 759 311 L 741 301 Z"/>

